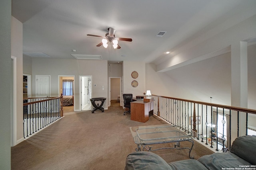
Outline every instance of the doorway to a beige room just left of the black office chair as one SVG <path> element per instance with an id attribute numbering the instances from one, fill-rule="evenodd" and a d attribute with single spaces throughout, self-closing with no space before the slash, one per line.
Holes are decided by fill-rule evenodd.
<path id="1" fill-rule="evenodd" d="M 111 100 L 117 100 L 120 102 L 120 106 L 122 106 L 121 77 L 109 77 L 108 83 L 108 96 L 110 98 L 108 106 L 111 106 Z"/>

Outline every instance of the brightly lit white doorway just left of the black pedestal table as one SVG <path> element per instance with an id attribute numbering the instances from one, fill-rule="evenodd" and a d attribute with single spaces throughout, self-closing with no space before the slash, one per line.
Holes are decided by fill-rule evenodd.
<path id="1" fill-rule="evenodd" d="M 79 76 L 80 78 L 80 110 L 90 110 L 92 98 L 92 76 Z"/>

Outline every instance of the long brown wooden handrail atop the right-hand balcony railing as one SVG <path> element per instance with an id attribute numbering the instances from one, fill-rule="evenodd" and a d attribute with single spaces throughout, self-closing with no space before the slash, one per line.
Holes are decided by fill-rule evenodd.
<path id="1" fill-rule="evenodd" d="M 191 103 L 196 103 L 196 104 L 202 104 L 202 105 L 213 106 L 213 107 L 221 107 L 221 108 L 224 108 L 224 109 L 230 109 L 230 110 L 235 110 L 235 111 L 242 111 L 242 112 L 245 112 L 245 113 L 256 114 L 256 110 L 254 110 L 254 109 L 246 109 L 246 108 L 242 108 L 242 107 L 226 106 L 226 105 L 221 105 L 221 104 L 199 102 L 199 101 L 195 101 L 195 100 L 186 100 L 186 99 L 180 99 L 180 98 L 171 98 L 171 97 L 167 97 L 167 96 L 158 96 L 158 95 L 154 95 L 154 94 L 152 94 L 152 96 L 174 99 L 174 100 L 181 100 L 181 101 L 184 101 L 184 102 L 191 102 Z"/>

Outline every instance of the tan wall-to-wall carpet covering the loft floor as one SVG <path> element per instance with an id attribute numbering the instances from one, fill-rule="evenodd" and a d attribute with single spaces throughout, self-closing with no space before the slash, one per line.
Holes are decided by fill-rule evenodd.
<path id="1" fill-rule="evenodd" d="M 146 123 L 131 121 L 123 112 L 114 101 L 104 112 L 64 112 L 62 119 L 11 148 L 12 170 L 123 170 L 126 156 L 136 148 L 129 127 L 165 123 L 153 115 Z M 187 149 L 154 153 L 167 162 L 189 159 Z M 191 155 L 197 159 L 212 153 L 195 142 Z"/>

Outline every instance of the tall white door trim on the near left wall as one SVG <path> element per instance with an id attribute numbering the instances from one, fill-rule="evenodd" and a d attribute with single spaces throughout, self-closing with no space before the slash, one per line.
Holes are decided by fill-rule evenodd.
<path id="1" fill-rule="evenodd" d="M 17 145 L 17 57 L 11 56 L 13 59 L 13 115 L 12 116 L 12 141 L 11 146 Z"/>

